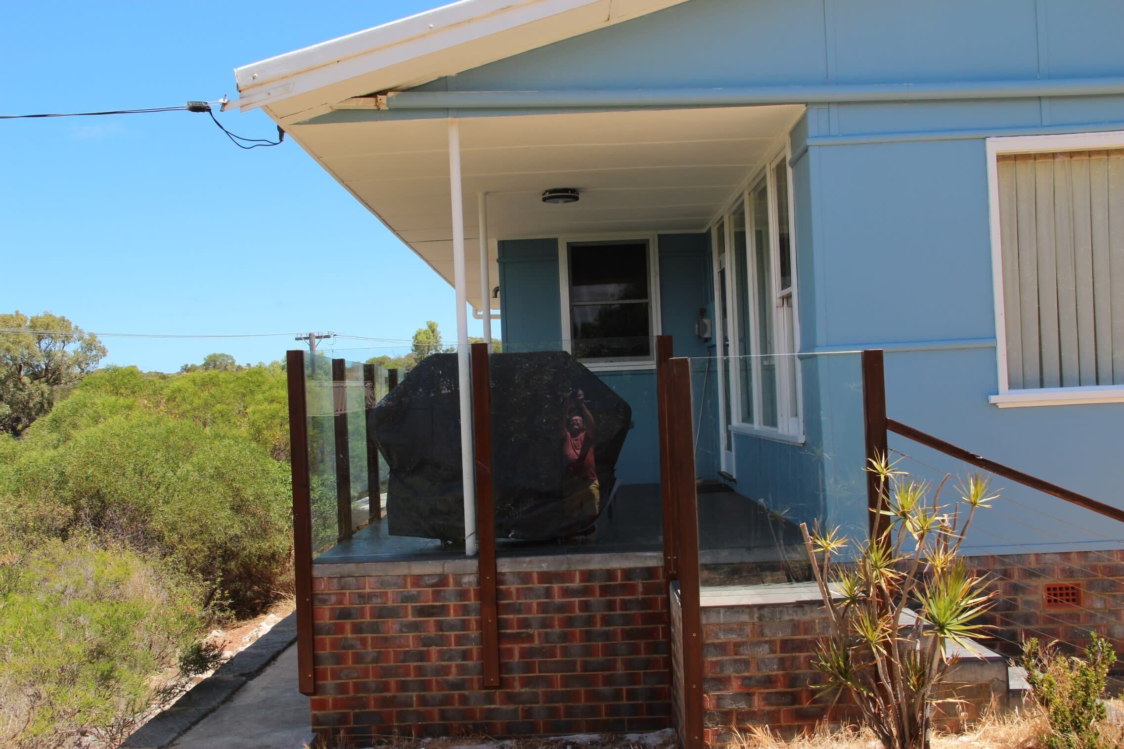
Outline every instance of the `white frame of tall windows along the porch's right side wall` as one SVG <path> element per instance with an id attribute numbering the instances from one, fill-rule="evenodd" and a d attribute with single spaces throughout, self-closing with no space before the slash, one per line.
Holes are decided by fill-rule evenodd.
<path id="1" fill-rule="evenodd" d="M 785 316 L 774 314 L 773 316 L 773 340 L 776 341 L 777 348 L 774 355 L 795 355 L 799 354 L 800 346 L 800 316 L 799 316 L 799 282 L 797 281 L 797 265 L 796 265 L 796 210 L 794 203 L 794 190 L 792 190 L 792 168 L 789 166 L 788 162 L 791 157 L 790 146 L 785 143 L 779 150 L 773 152 L 770 158 L 758 170 L 755 170 L 752 176 L 743 185 L 742 190 L 738 192 L 737 198 L 726 207 L 726 209 L 718 216 L 710 226 L 711 232 L 717 231 L 719 225 L 725 227 L 725 241 L 726 241 L 726 304 L 727 304 L 727 318 L 729 320 L 729 338 L 731 338 L 731 350 L 729 356 L 733 360 L 734 357 L 742 356 L 742 351 L 738 348 L 738 334 L 740 334 L 740 320 L 736 314 L 736 278 L 734 278 L 733 271 L 736 268 L 736 263 L 733 262 L 733 230 L 731 225 L 731 216 L 737 210 L 738 203 L 741 203 L 742 210 L 745 212 L 745 240 L 746 240 L 746 292 L 749 294 L 749 340 L 750 347 L 753 351 L 761 350 L 760 341 L 760 326 L 758 325 L 758 300 L 756 300 L 756 264 L 754 263 L 755 247 L 753 246 L 753 217 L 750 210 L 750 194 L 758 188 L 761 180 L 765 180 L 765 193 L 768 199 L 768 216 L 769 216 L 769 252 L 771 255 L 770 262 L 770 274 L 771 274 L 771 287 L 773 293 L 773 304 L 779 307 L 786 301 L 792 305 L 792 336 L 791 342 L 795 350 L 789 349 L 789 337 L 786 335 L 785 330 Z M 780 232 L 779 228 L 779 216 L 777 205 L 777 185 L 774 170 L 776 167 L 783 163 L 787 170 L 787 198 L 788 198 L 788 234 L 789 234 L 789 262 L 792 268 L 792 285 L 781 291 L 780 286 Z M 715 235 L 711 234 L 711 237 Z M 711 243 L 713 244 L 713 243 Z M 717 248 L 715 247 L 713 253 L 714 267 L 715 267 L 715 295 L 717 298 L 718 284 L 717 284 Z M 720 356 L 720 336 L 723 331 L 719 330 L 722 326 L 722 320 L 718 318 L 718 309 L 715 308 L 715 340 L 718 341 L 717 354 Z M 787 382 L 787 378 L 780 376 L 780 371 L 778 369 L 777 380 L 777 427 L 767 427 L 760 422 L 761 413 L 763 411 L 763 398 L 761 390 L 761 357 L 753 357 L 753 372 L 752 372 L 752 396 L 753 396 L 753 423 L 749 423 L 742 420 L 741 412 L 741 387 L 737 382 L 737 374 L 733 371 L 732 362 L 727 363 L 726 380 L 733 383 L 732 386 L 727 386 L 724 390 L 731 393 L 731 423 L 725 424 L 729 431 L 735 435 L 747 435 L 752 437 L 763 437 L 767 439 L 773 439 L 782 442 L 792 442 L 797 445 L 803 445 L 805 441 L 804 433 L 804 395 L 803 395 L 803 371 L 799 359 L 796 362 L 796 377 L 795 382 Z M 795 387 L 796 390 L 796 413 L 788 413 L 788 403 L 790 391 L 789 387 Z M 725 393 L 720 394 L 719 398 L 719 409 L 724 408 Z M 725 411 L 719 414 L 719 422 L 725 419 Z"/>

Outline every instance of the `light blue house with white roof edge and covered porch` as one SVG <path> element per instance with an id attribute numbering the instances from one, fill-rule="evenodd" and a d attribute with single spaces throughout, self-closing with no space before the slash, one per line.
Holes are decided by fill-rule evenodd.
<path id="1" fill-rule="evenodd" d="M 858 528 L 865 348 L 891 418 L 1120 503 L 1122 31 L 1116 0 L 464 0 L 241 67 L 228 108 L 456 287 L 462 344 L 497 314 L 598 371 L 622 484 L 659 477 L 670 334 L 700 477 Z M 977 551 L 1120 537 L 1005 488 L 1061 522 L 1007 505 Z"/>

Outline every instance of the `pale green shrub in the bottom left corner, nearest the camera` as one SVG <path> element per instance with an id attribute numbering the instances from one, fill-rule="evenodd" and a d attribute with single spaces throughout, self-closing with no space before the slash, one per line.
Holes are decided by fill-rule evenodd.
<path id="1" fill-rule="evenodd" d="M 0 556 L 0 745 L 78 747 L 90 736 L 117 746 L 214 666 L 197 599 L 125 547 L 53 540 Z"/>

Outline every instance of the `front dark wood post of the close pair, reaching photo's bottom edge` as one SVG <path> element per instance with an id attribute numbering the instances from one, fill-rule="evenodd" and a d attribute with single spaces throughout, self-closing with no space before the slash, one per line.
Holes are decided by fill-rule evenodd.
<path id="1" fill-rule="evenodd" d="M 691 368 L 686 358 L 671 359 L 668 404 L 671 482 L 677 505 L 679 601 L 682 613 L 685 749 L 703 748 L 703 610 L 699 576 L 698 497 L 695 484 Z"/>

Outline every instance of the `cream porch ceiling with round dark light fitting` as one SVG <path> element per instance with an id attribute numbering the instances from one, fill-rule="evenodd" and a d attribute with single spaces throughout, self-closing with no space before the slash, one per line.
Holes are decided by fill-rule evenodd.
<path id="1" fill-rule="evenodd" d="M 477 193 L 488 236 L 703 230 L 774 152 L 800 106 L 470 117 L 461 120 L 469 302 L 479 299 Z M 287 130 L 452 283 L 447 120 L 291 125 Z M 581 200 L 540 195 L 577 188 Z M 492 285 L 498 280 L 492 261 Z M 498 308 L 497 300 L 492 307 Z"/>

